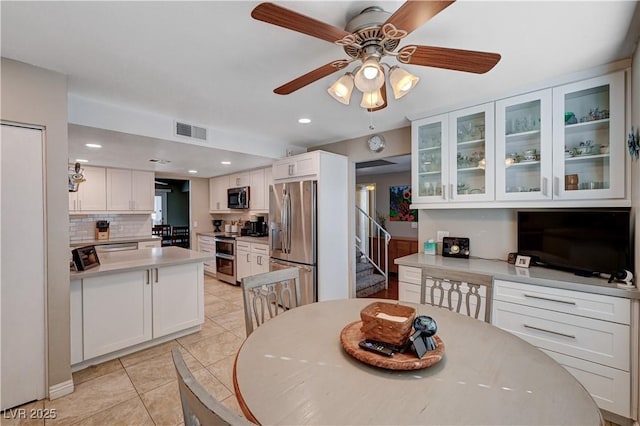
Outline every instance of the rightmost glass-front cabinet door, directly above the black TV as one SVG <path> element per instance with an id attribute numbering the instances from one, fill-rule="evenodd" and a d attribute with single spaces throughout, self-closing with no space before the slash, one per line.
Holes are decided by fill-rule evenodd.
<path id="1" fill-rule="evenodd" d="M 553 89 L 553 196 L 625 197 L 624 72 Z"/>

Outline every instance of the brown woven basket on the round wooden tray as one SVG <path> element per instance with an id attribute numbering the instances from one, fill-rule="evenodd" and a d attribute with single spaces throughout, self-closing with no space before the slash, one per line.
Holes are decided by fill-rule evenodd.
<path id="1" fill-rule="evenodd" d="M 402 346 L 407 343 L 416 310 L 398 303 L 374 302 L 360 311 L 367 339 Z"/>

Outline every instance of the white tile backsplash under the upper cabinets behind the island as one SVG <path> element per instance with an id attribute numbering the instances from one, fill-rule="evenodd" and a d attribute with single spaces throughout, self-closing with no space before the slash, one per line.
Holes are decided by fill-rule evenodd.
<path id="1" fill-rule="evenodd" d="M 152 220 L 148 214 L 95 214 L 69 217 L 70 242 L 93 240 L 96 221 L 109 222 L 109 237 L 148 237 L 151 235 Z"/>

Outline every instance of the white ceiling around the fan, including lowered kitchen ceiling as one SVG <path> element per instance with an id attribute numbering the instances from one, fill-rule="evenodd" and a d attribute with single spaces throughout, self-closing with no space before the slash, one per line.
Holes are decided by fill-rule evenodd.
<path id="1" fill-rule="evenodd" d="M 278 4 L 343 28 L 365 7 L 377 5 L 393 12 L 402 3 Z M 180 118 L 237 134 L 239 140 L 306 149 L 404 127 L 409 125 L 408 116 L 495 98 L 628 58 L 640 28 L 636 1 L 460 0 L 400 45 L 497 52 L 502 55 L 498 65 L 483 75 L 409 65 L 407 69 L 421 78 L 416 89 L 368 114 L 359 102 L 344 106 L 326 93 L 339 72 L 291 95 L 274 94 L 274 88 L 346 54 L 331 43 L 252 19 L 257 4 L 2 1 L 2 56 L 68 75 L 72 96 Z M 302 116 L 312 123 L 298 124 Z M 149 169 L 149 158 L 169 155 L 172 164 L 182 169 L 163 170 L 184 173 L 181 170 L 193 168 L 206 177 L 272 161 L 246 147 L 238 148 L 242 154 L 238 156 L 232 150 L 132 138 L 82 126 L 71 126 L 69 158 L 88 155 L 80 150 L 91 137 L 114 144 L 111 152 L 105 147 L 101 153 L 89 153 L 95 164 L 113 161 L 117 164 L 104 165 Z M 114 140 L 120 140 L 119 145 Z M 235 163 L 221 169 L 217 160 L 234 155 Z"/>

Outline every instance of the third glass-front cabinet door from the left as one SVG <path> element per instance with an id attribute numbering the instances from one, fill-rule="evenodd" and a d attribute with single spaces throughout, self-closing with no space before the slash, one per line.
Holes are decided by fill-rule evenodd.
<path id="1" fill-rule="evenodd" d="M 551 89 L 496 102 L 496 200 L 552 198 Z"/>

